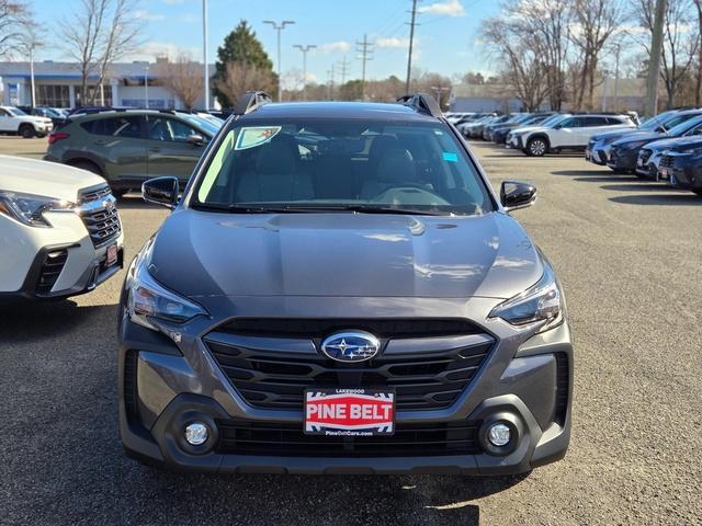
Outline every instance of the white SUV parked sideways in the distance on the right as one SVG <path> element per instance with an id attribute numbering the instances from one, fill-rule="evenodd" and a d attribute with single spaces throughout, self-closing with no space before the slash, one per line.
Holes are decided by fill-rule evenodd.
<path id="1" fill-rule="evenodd" d="M 541 157 L 561 150 L 582 150 L 593 135 L 635 127 L 636 124 L 629 115 L 565 114 L 547 126 L 510 132 L 507 145 L 528 156 Z"/>

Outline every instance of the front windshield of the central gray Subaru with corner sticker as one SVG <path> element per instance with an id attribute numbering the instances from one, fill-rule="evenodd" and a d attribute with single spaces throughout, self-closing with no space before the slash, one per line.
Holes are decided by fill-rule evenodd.
<path id="1" fill-rule="evenodd" d="M 248 213 L 494 210 L 449 127 L 361 119 L 231 123 L 191 206 Z"/>

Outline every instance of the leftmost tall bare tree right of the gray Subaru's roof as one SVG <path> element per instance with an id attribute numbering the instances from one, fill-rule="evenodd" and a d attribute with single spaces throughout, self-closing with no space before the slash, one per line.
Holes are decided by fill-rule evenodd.
<path id="1" fill-rule="evenodd" d="M 488 47 L 506 65 L 502 71 L 507 82 L 529 111 L 535 111 L 546 98 L 546 68 L 537 49 L 533 33 L 522 31 L 513 19 L 489 19 L 483 34 Z"/>

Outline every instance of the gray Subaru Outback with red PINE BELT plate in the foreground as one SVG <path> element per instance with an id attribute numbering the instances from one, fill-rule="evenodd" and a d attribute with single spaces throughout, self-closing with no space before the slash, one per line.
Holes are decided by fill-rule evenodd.
<path id="1" fill-rule="evenodd" d="M 218 472 L 501 474 L 565 455 L 562 287 L 428 95 L 242 98 L 131 265 L 120 428 Z"/>

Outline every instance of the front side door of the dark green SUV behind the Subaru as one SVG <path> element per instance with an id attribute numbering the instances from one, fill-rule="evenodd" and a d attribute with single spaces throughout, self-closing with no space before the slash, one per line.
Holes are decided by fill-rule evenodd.
<path id="1" fill-rule="evenodd" d="M 205 140 L 197 144 L 190 137 Z M 171 175 L 185 184 L 206 146 L 205 135 L 168 114 L 147 116 L 146 148 L 149 178 Z"/>

